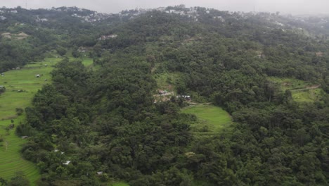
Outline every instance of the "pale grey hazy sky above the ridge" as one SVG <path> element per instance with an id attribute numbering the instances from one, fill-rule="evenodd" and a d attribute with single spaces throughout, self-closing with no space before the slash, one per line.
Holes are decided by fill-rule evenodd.
<path id="1" fill-rule="evenodd" d="M 157 8 L 185 4 L 186 7 L 202 6 L 220 11 L 269 11 L 292 14 L 329 14 L 329 0 L 0 0 L 0 7 L 51 8 L 77 6 L 100 13 L 118 13 L 125 9 Z"/>

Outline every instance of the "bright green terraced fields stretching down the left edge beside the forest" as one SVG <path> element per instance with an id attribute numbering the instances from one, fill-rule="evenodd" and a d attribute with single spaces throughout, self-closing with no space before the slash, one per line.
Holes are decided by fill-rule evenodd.
<path id="1" fill-rule="evenodd" d="M 31 105 L 34 94 L 43 85 L 51 82 L 50 72 L 61 58 L 47 58 L 45 61 L 33 63 L 18 70 L 10 70 L 0 76 L 0 85 L 6 92 L 0 95 L 0 178 L 9 180 L 15 172 L 22 171 L 32 185 L 39 179 L 37 166 L 22 159 L 21 145 L 26 142 L 15 135 L 15 128 L 8 130 L 13 122 L 16 126 L 25 119 L 25 113 L 17 116 L 16 109 L 25 109 Z M 92 60 L 87 58 L 82 63 L 90 66 Z M 37 76 L 39 75 L 39 77 Z M 1 140 L 0 140 L 1 141 Z"/>

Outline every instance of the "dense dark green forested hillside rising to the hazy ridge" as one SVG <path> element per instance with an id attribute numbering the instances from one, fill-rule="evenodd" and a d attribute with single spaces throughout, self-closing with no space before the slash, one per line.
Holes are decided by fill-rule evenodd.
<path id="1" fill-rule="evenodd" d="M 86 10 L 56 10 L 35 24 L 56 35 L 52 55 L 71 60 L 17 128 L 39 185 L 328 185 L 328 19 L 175 6 L 89 22 Z M 231 128 L 196 136 L 198 119 L 180 111 L 191 102 L 155 101 L 160 77 L 228 111 Z"/>

